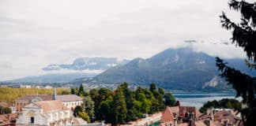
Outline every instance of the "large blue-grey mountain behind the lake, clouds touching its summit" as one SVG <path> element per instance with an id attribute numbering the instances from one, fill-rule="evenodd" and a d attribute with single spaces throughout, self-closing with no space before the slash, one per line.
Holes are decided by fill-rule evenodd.
<path id="1" fill-rule="evenodd" d="M 256 75 L 247 69 L 243 59 L 225 59 L 229 65 Z M 218 76 L 215 57 L 195 52 L 189 47 L 168 49 L 147 59 L 135 58 L 126 65 L 115 66 L 94 76 L 94 83 L 156 83 L 160 87 L 183 91 L 227 91 L 229 87 Z M 90 83 L 90 82 L 86 82 Z"/>

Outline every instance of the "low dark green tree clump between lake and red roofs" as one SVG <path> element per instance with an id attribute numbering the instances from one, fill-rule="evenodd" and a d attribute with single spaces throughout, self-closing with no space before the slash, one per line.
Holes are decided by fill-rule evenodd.
<path id="1" fill-rule="evenodd" d="M 201 113 L 205 113 L 206 110 L 209 108 L 241 110 L 242 103 L 237 101 L 236 99 L 223 98 L 220 101 L 216 101 L 216 100 L 213 100 L 212 102 L 208 101 L 199 110 Z"/>

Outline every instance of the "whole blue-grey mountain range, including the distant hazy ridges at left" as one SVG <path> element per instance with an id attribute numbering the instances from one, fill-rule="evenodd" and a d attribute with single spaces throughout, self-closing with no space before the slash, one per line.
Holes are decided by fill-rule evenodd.
<path id="1" fill-rule="evenodd" d="M 224 59 L 228 65 L 251 76 L 256 72 L 247 68 L 244 59 Z M 181 91 L 230 91 L 218 75 L 215 57 L 196 52 L 190 47 L 168 49 L 152 57 L 135 58 L 132 61 L 118 61 L 116 58 L 82 57 L 70 65 L 48 65 L 44 71 L 61 69 L 77 70 L 78 73 L 47 74 L 28 76 L 11 82 L 29 83 L 93 83 L 119 84 L 127 82 L 135 85 L 156 83 L 165 89 Z M 84 69 L 104 70 L 100 74 L 81 72 Z"/>

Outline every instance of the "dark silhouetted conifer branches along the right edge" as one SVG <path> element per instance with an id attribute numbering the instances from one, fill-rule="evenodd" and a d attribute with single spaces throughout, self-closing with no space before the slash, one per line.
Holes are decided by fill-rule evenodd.
<path id="1" fill-rule="evenodd" d="M 223 28 L 232 31 L 232 43 L 240 46 L 247 53 L 246 64 L 252 70 L 256 69 L 256 2 L 231 0 L 228 3 L 230 9 L 241 13 L 241 22 L 235 24 L 228 19 L 225 13 L 220 16 Z M 219 68 L 220 76 L 224 77 L 237 92 L 236 96 L 242 96 L 243 103 L 247 105 L 241 110 L 243 124 L 256 124 L 256 77 L 249 76 L 237 69 L 229 67 L 227 63 L 216 57 L 216 66 Z"/>

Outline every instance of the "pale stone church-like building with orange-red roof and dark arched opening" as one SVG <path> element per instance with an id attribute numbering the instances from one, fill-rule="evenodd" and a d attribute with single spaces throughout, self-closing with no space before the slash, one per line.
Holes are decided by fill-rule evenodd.
<path id="1" fill-rule="evenodd" d="M 61 102 L 30 102 L 22 108 L 17 126 L 72 125 L 74 120 L 71 110 Z"/>

